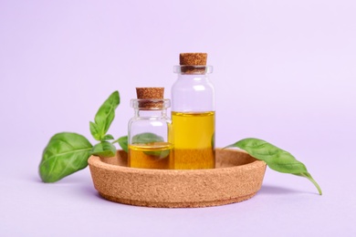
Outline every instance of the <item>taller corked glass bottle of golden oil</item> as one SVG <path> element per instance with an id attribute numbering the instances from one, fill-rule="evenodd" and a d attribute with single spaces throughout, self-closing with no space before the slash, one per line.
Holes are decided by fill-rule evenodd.
<path id="1" fill-rule="evenodd" d="M 174 169 L 215 168 L 215 89 L 207 54 L 180 55 L 172 88 Z"/>

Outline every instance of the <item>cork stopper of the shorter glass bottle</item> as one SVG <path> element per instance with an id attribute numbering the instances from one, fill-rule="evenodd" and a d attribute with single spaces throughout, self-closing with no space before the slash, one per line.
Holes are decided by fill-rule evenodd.
<path id="1" fill-rule="evenodd" d="M 143 110 L 160 109 L 163 105 L 164 88 L 136 88 L 139 107 Z"/>

